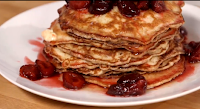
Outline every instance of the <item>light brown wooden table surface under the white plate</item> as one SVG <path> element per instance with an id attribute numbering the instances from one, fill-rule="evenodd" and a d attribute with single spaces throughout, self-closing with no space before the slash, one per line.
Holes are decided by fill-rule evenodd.
<path id="1" fill-rule="evenodd" d="M 0 25 L 11 17 L 53 1 L 0 1 Z M 100 109 L 63 103 L 27 92 L 0 75 L 0 109 Z M 129 106 L 106 107 L 106 109 L 199 109 L 200 90 L 189 95 L 160 103 Z"/>

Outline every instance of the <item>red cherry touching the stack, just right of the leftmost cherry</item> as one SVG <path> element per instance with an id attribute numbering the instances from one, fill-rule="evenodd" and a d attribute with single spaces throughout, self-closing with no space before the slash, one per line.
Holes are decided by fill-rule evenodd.
<path id="1" fill-rule="evenodd" d="M 56 68 L 51 63 L 40 60 L 36 60 L 35 63 L 43 77 L 51 77 L 55 74 Z"/>

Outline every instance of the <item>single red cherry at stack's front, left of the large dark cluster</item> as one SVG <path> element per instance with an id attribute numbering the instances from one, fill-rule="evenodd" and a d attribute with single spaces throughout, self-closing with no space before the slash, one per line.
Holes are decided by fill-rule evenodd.
<path id="1" fill-rule="evenodd" d="M 63 86 L 67 89 L 81 89 L 86 84 L 85 78 L 78 72 L 68 71 L 63 73 Z"/>

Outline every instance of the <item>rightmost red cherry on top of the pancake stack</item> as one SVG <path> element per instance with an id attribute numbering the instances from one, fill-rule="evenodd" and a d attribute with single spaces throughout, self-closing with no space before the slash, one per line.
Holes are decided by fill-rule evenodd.
<path id="1" fill-rule="evenodd" d="M 151 1 L 151 9 L 157 13 L 163 12 L 166 10 L 164 1 Z"/>

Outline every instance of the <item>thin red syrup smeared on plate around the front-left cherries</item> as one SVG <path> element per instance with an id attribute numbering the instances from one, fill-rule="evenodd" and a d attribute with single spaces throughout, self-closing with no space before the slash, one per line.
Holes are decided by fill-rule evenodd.
<path id="1" fill-rule="evenodd" d="M 44 44 L 41 41 L 42 41 L 42 38 L 37 37 L 36 40 L 31 39 L 28 42 L 29 42 L 30 45 L 36 46 L 36 48 L 33 48 L 32 50 L 34 52 L 38 53 L 37 59 L 41 60 L 41 61 L 46 61 L 46 58 L 45 58 L 45 55 L 44 55 L 44 52 L 43 52 Z M 32 61 L 28 56 L 24 57 L 24 61 L 25 61 L 26 64 L 32 64 L 32 65 L 35 64 L 35 62 Z M 52 77 L 42 78 L 42 79 L 39 79 L 39 80 L 35 80 L 33 82 L 38 84 L 38 85 L 50 87 L 50 88 L 64 88 L 63 87 L 62 74 L 59 74 L 59 73 L 55 74 Z M 87 84 L 86 86 L 84 86 L 83 89 L 84 90 L 93 90 L 95 92 L 103 92 L 103 93 L 105 93 L 106 90 L 107 90 L 106 88 L 103 88 L 103 87 L 100 87 L 100 86 L 97 86 L 97 85 L 94 85 L 94 84 Z"/>

